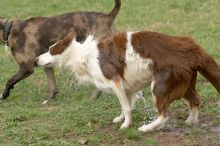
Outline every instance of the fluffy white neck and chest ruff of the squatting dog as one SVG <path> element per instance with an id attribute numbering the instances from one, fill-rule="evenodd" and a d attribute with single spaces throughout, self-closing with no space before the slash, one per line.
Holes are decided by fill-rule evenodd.
<path id="1" fill-rule="evenodd" d="M 109 82 L 102 74 L 98 61 L 97 41 L 89 35 L 83 44 L 72 41 L 63 53 L 59 66 L 69 68 L 81 83 L 93 83 L 100 90 L 109 90 Z"/>

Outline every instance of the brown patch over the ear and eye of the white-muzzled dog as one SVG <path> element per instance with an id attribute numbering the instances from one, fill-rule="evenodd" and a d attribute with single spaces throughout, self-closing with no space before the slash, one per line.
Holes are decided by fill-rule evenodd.
<path id="1" fill-rule="evenodd" d="M 75 39 L 75 32 L 68 33 L 62 40 L 56 42 L 52 45 L 50 49 L 51 55 L 60 55 L 62 54 L 66 48 L 70 45 L 73 39 Z"/>

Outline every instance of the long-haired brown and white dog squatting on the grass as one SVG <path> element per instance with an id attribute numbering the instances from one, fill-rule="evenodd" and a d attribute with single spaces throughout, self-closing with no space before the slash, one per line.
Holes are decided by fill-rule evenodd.
<path id="1" fill-rule="evenodd" d="M 69 33 L 51 46 L 49 52 L 39 56 L 37 63 L 67 67 L 78 80 L 92 83 L 100 90 L 112 90 L 122 107 L 121 115 L 113 122 L 125 119 L 121 128 L 132 123 L 135 93 L 151 84 L 159 117 L 140 127 L 142 132 L 164 125 L 169 117 L 169 105 L 181 98 L 189 105 L 186 123 L 198 123 L 197 72 L 220 93 L 220 67 L 189 37 L 142 31 L 119 33 L 101 42 L 89 36 L 80 44 L 75 33 Z"/>

